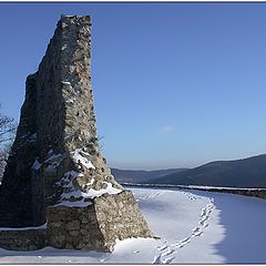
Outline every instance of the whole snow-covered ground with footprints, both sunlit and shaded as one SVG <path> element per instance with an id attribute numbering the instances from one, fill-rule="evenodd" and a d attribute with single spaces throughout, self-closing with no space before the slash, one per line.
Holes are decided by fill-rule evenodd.
<path id="1" fill-rule="evenodd" d="M 266 263 L 265 200 L 176 188 L 131 190 L 150 228 L 161 239 L 117 242 L 112 254 L 51 247 L 0 249 L 0 263 Z"/>

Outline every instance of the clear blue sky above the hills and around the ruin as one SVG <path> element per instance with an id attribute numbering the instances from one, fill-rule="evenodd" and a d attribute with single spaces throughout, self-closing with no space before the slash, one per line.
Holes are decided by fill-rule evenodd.
<path id="1" fill-rule="evenodd" d="M 266 3 L 0 3 L 0 102 L 19 119 L 60 14 L 92 16 L 110 166 L 192 167 L 266 153 Z"/>

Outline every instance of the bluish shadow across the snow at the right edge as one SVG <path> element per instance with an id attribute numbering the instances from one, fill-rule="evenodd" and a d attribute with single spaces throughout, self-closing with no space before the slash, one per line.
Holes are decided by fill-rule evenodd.
<path id="1" fill-rule="evenodd" d="M 214 245 L 225 263 L 266 263 L 266 201 L 227 193 L 191 191 L 214 198 L 219 211 L 219 224 L 225 229 L 222 242 Z"/>

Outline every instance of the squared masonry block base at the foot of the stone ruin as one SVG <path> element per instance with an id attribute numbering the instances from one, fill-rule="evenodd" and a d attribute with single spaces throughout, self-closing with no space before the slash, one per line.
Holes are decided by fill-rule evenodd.
<path id="1" fill-rule="evenodd" d="M 150 237 L 132 193 L 104 194 L 80 208 L 49 207 L 48 243 L 57 248 L 113 250 L 116 239 Z"/>

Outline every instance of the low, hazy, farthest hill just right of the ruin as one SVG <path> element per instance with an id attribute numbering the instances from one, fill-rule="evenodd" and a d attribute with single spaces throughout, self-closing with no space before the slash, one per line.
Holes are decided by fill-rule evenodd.
<path id="1" fill-rule="evenodd" d="M 120 183 L 147 183 L 163 178 L 165 175 L 187 171 L 188 168 L 170 168 L 155 171 L 119 170 L 111 168 L 112 175 Z"/>

